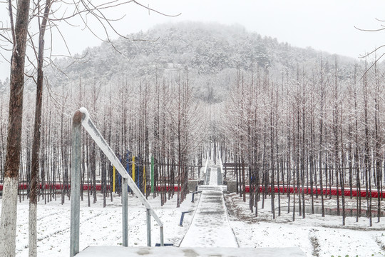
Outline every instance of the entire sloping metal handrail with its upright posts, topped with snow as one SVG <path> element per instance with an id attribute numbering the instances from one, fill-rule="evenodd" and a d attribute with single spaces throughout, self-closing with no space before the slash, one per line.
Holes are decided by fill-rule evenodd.
<path id="1" fill-rule="evenodd" d="M 107 158 L 111 161 L 116 170 L 123 178 L 122 183 L 122 226 L 123 226 L 123 246 L 128 246 L 128 186 L 143 203 L 146 208 L 147 215 L 147 245 L 151 246 L 151 216 L 160 227 L 160 246 L 164 246 L 163 223 L 158 218 L 150 203 L 146 200 L 143 193 L 140 192 L 138 186 L 135 185 L 133 179 L 125 171 L 118 157 L 113 153 L 106 140 L 96 129 L 96 126 L 90 119 L 86 108 L 78 109 L 73 114 L 72 121 L 72 156 L 71 156 L 71 232 L 70 232 L 70 256 L 73 257 L 79 253 L 79 226 L 80 226 L 80 181 L 81 181 L 81 126 L 86 129 L 91 138 L 101 148 Z"/>

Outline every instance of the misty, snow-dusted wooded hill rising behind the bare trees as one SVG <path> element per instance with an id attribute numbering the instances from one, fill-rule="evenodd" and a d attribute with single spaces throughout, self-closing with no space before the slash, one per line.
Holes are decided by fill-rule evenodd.
<path id="1" fill-rule="evenodd" d="M 133 40 L 118 39 L 113 46 L 103 43 L 86 49 L 76 60 L 56 60 L 60 71 L 47 71 L 51 86 L 93 78 L 108 84 L 122 76 L 138 79 L 156 74 L 161 77 L 188 69 L 195 81 L 217 81 L 210 83 L 216 83 L 214 87 L 227 87 L 230 82 L 218 78 L 237 69 L 250 71 L 251 66 L 268 66 L 272 71 L 281 72 L 297 69 L 297 64 L 316 64 L 321 54 L 314 49 L 279 43 L 277 39 L 262 37 L 237 25 L 163 24 L 147 32 L 130 34 L 128 38 Z M 334 62 L 329 54 L 322 53 L 322 56 Z M 353 59 L 344 57 L 339 57 L 339 62 L 354 64 Z"/>

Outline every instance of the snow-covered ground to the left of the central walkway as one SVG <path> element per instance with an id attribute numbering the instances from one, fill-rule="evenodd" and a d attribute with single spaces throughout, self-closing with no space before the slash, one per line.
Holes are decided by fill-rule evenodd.
<path id="1" fill-rule="evenodd" d="M 160 198 L 149 197 L 156 213 L 164 223 L 165 243 L 179 246 L 180 240 L 188 230 L 193 213 L 185 214 L 183 227 L 179 226 L 182 211 L 193 211 L 195 203 L 191 196 L 176 208 L 176 196 L 160 207 Z M 199 199 L 199 196 L 195 196 Z M 1 206 L 1 200 L 0 200 Z M 38 256 L 69 256 L 70 237 L 70 201 L 61 205 L 60 201 L 51 201 L 46 205 L 38 203 Z M 28 256 L 28 208 L 29 202 L 18 203 L 16 256 Z M 122 244 L 122 208 L 120 197 L 114 196 L 113 201 L 107 200 L 103 208 L 103 196 L 98 195 L 98 201 L 87 207 L 87 201 L 81 201 L 80 249 L 86 246 L 120 246 Z M 128 246 L 147 246 L 145 208 L 135 196 L 128 196 Z M 159 226 L 153 219 L 152 245 L 160 243 Z"/>

